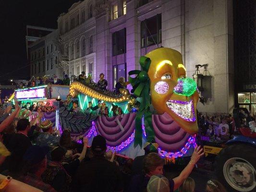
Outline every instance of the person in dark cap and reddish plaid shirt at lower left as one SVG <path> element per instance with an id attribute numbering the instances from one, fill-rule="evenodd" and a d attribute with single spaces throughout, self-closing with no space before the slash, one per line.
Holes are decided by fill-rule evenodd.
<path id="1" fill-rule="evenodd" d="M 49 147 L 33 145 L 29 147 L 23 156 L 23 175 L 18 180 L 31 185 L 44 192 L 56 192 L 49 184 L 43 182 L 41 175 L 47 167 L 47 153 Z"/>

